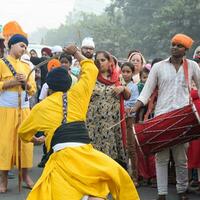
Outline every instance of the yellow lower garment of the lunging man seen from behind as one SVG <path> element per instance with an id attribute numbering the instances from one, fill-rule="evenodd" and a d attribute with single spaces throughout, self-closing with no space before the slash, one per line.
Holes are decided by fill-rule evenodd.
<path id="1" fill-rule="evenodd" d="M 53 153 L 27 200 L 79 200 L 84 195 L 139 200 L 128 173 L 92 145 Z"/>

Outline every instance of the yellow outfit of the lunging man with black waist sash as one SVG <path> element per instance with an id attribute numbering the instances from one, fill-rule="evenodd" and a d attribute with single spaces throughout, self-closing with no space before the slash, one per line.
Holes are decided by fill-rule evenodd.
<path id="1" fill-rule="evenodd" d="M 67 122 L 85 121 L 98 70 L 91 60 L 81 62 L 80 80 L 67 92 Z M 56 92 L 37 104 L 19 128 L 24 141 L 43 130 L 50 148 L 55 129 L 63 119 L 62 92 Z M 55 152 L 46 163 L 42 176 L 27 200 L 80 200 L 84 195 L 138 200 L 127 172 L 111 158 L 93 149 L 91 144 L 67 147 Z"/>

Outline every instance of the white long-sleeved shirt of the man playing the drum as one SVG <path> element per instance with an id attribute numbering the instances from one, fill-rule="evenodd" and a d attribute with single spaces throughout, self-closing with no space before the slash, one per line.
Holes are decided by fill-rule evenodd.
<path id="1" fill-rule="evenodd" d="M 199 90 L 200 68 L 192 60 L 187 59 L 187 62 L 189 85 L 191 86 L 193 80 Z M 156 63 L 149 73 L 138 100 L 146 105 L 156 86 L 158 86 L 158 99 L 155 108 L 156 116 L 189 104 L 189 91 L 182 65 L 178 72 L 176 72 L 169 58 Z"/>

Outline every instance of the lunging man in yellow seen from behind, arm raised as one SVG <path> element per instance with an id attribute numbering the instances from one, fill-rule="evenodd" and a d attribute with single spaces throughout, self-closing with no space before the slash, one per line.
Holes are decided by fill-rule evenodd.
<path id="1" fill-rule="evenodd" d="M 48 151 L 53 149 L 27 200 L 106 199 L 109 193 L 117 200 L 139 200 L 128 173 L 90 144 L 85 121 L 96 66 L 75 45 L 64 51 L 79 60 L 80 80 L 70 88 L 66 69 L 49 72 L 47 84 L 53 93 L 31 110 L 18 131 L 24 141 L 41 142 L 44 136 L 35 138 L 34 134 L 43 130 Z"/>

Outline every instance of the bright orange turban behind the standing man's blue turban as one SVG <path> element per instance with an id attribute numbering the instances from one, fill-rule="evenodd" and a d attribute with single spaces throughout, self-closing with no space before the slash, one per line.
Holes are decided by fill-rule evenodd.
<path id="1" fill-rule="evenodd" d="M 7 39 L 12 35 L 20 34 L 27 38 L 27 34 L 22 30 L 16 21 L 10 21 L 3 27 L 3 36 Z"/>

